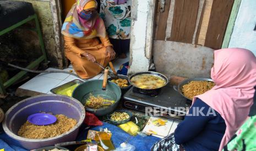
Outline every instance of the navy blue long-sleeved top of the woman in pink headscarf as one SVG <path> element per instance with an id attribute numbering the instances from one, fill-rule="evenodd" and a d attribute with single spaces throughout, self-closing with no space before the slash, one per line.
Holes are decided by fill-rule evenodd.
<path id="1" fill-rule="evenodd" d="M 175 142 L 182 144 L 186 151 L 218 150 L 226 130 L 225 120 L 199 98 L 189 109 L 189 114 L 197 113 L 195 111 L 203 114 L 186 115 L 175 130 Z"/>

